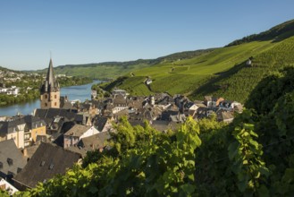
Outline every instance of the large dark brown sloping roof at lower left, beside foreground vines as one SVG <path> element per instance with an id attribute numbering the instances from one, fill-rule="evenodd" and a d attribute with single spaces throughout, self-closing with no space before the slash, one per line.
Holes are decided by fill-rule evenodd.
<path id="1" fill-rule="evenodd" d="M 80 158 L 81 155 L 76 152 L 42 142 L 21 173 L 13 178 L 14 186 L 23 191 L 39 182 L 46 183 L 56 175 L 64 175 Z"/>

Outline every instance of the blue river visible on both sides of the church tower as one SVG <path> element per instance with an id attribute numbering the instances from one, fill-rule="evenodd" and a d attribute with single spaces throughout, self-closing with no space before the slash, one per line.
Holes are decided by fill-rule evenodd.
<path id="1" fill-rule="evenodd" d="M 86 85 L 70 86 L 61 88 L 61 96 L 67 95 L 68 99 L 79 99 L 81 102 L 86 99 L 91 99 L 91 86 L 100 81 L 93 81 Z M 40 107 L 40 100 L 36 99 L 28 103 L 15 104 L 13 106 L 0 107 L 0 116 L 15 116 L 18 113 L 21 115 L 30 115 L 35 108 Z"/>

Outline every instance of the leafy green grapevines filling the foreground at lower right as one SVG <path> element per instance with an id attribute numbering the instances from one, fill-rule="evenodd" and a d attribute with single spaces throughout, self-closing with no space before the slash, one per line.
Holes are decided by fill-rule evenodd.
<path id="1" fill-rule="evenodd" d="M 125 118 L 103 152 L 21 196 L 293 196 L 294 68 L 260 81 L 232 124 L 189 118 L 176 132 Z"/>

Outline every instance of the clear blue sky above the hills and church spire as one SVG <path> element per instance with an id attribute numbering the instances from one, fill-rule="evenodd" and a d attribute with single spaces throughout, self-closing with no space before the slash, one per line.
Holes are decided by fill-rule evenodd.
<path id="1" fill-rule="evenodd" d="M 0 65 L 15 70 L 223 47 L 294 19 L 293 0 L 0 0 Z"/>

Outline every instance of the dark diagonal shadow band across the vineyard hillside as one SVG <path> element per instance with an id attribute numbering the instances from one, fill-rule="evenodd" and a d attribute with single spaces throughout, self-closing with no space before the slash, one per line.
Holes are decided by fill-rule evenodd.
<path id="1" fill-rule="evenodd" d="M 246 66 L 248 66 L 246 65 L 246 62 L 243 62 L 241 64 L 234 65 L 228 71 L 221 72 L 221 73 L 214 73 L 215 76 L 213 78 L 209 79 L 208 81 L 206 81 L 204 85 L 200 86 L 199 88 L 197 88 L 197 90 L 193 91 L 193 93 L 191 93 L 190 96 L 192 96 L 193 98 L 196 98 L 197 95 L 199 94 L 211 95 L 216 90 L 227 89 L 228 87 L 225 87 L 225 85 L 220 87 L 220 86 L 216 86 L 215 83 L 222 81 L 223 79 L 228 78 L 235 73 L 238 73 L 239 70 L 241 70 L 242 68 Z"/>

